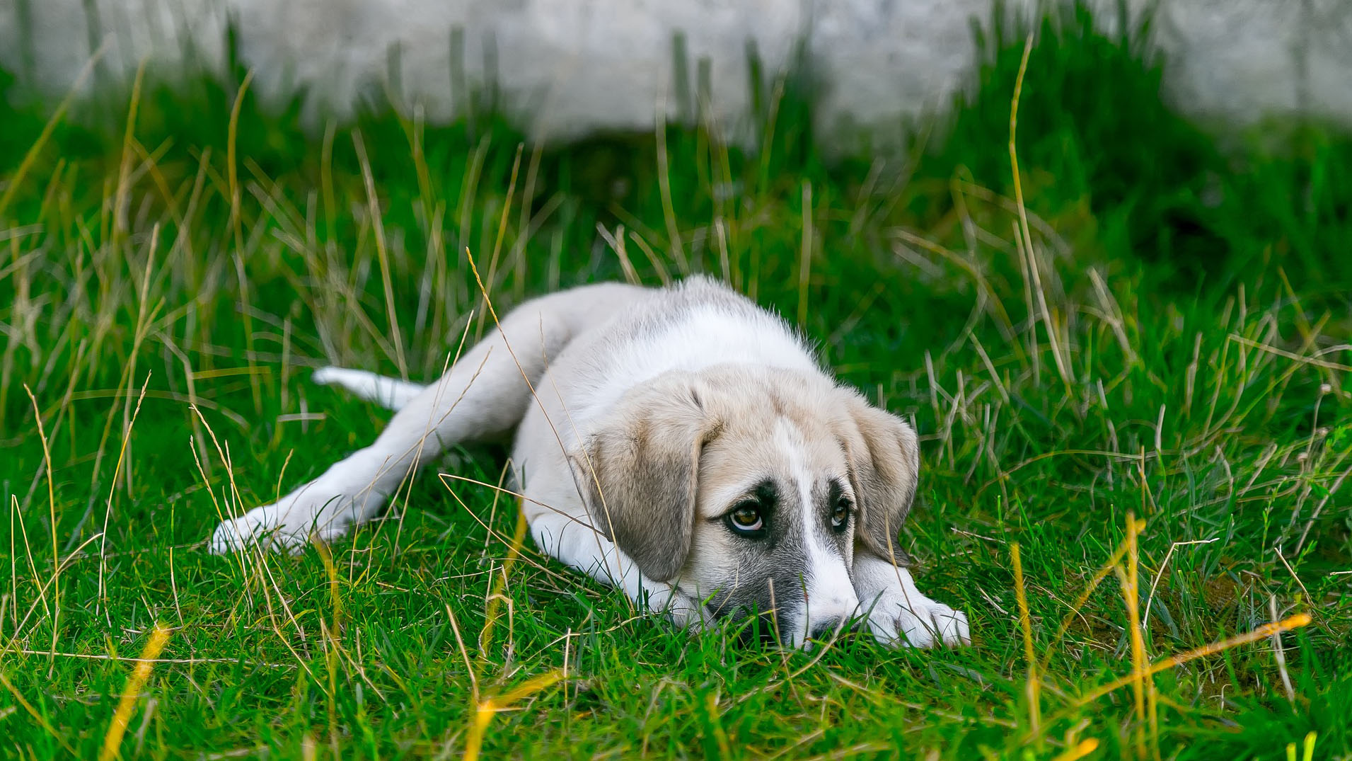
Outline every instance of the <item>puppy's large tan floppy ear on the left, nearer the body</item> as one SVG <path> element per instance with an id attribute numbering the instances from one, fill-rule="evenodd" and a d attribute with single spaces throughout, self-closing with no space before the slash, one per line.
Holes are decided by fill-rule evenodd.
<path id="1" fill-rule="evenodd" d="M 667 581 L 685 564 L 699 454 L 714 427 L 692 378 L 658 377 L 569 456 L 592 524 L 648 579 Z"/>

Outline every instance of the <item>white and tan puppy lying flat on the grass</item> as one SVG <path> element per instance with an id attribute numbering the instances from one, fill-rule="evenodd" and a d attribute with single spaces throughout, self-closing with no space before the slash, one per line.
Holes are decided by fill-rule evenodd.
<path id="1" fill-rule="evenodd" d="M 642 610 L 692 629 L 760 615 L 795 647 L 850 623 L 892 646 L 969 643 L 967 615 L 922 595 L 896 546 L 915 431 L 718 281 L 542 296 L 426 387 L 314 380 L 396 414 L 370 446 L 223 522 L 212 551 L 335 539 L 448 446 L 515 430 L 535 545 Z"/>

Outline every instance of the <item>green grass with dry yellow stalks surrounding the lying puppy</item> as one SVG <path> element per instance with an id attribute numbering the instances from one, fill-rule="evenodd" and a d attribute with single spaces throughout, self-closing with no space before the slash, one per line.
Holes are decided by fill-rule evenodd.
<path id="1" fill-rule="evenodd" d="M 3 107 L 3 753 L 96 756 L 164 624 L 123 757 L 457 757 L 476 695 L 557 669 L 492 719 L 485 757 L 1056 758 L 1094 739 L 1091 758 L 1282 758 L 1309 733 L 1317 758 L 1352 756 L 1352 142 L 1301 128 L 1222 153 L 1161 104 L 1136 38 L 1084 24 L 1048 22 L 1029 62 L 1032 254 L 1007 153 L 1018 30 L 888 159 L 823 157 L 795 88 L 760 151 L 675 127 L 533 151 L 492 118 L 388 112 L 307 135 L 251 96 L 231 151 L 235 88 L 210 81 L 147 80 L 135 119 L 119 107 L 130 128 L 62 123 L 42 145 L 50 109 Z M 499 310 L 702 270 L 800 320 L 844 380 L 914 416 L 900 538 L 975 645 L 673 633 L 529 543 L 506 564 L 514 507 L 430 472 L 331 565 L 206 554 L 219 511 L 387 418 L 308 368 L 430 378 L 483 334 L 469 255 Z M 493 483 L 503 456 L 442 469 Z M 1082 702 L 1132 670 L 1119 577 L 1072 610 L 1129 514 L 1151 660 L 1306 612 L 1284 665 L 1261 639 L 1161 672 L 1144 711 L 1130 687 Z"/>

